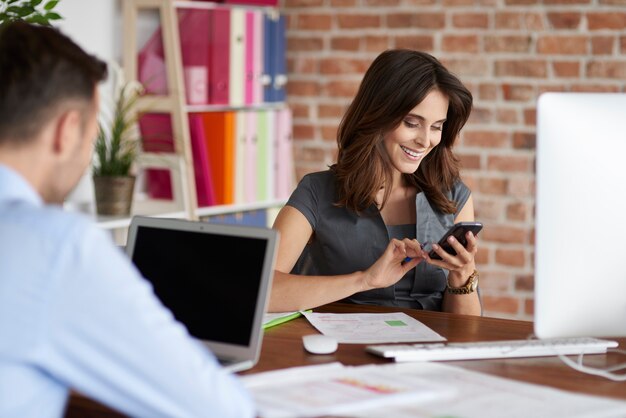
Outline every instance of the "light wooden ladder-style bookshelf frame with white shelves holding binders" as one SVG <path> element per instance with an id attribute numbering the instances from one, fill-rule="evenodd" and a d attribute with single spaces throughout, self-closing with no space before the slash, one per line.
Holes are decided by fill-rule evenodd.
<path id="1" fill-rule="evenodd" d="M 207 113 L 245 113 L 245 112 L 279 112 L 288 110 L 284 101 L 266 101 L 263 96 L 254 102 L 235 103 L 194 103 L 189 104 L 186 94 L 186 74 L 184 51 L 182 50 L 181 33 L 179 30 L 179 13 L 181 11 L 229 10 L 238 13 L 256 11 L 263 16 L 279 15 L 276 7 L 224 4 L 208 1 L 177 1 L 177 0 L 125 0 L 123 2 L 123 60 L 126 80 L 140 80 L 140 67 L 137 37 L 138 16 L 144 11 L 157 11 L 160 19 L 163 64 L 165 66 L 164 82 L 166 91 L 142 97 L 137 101 L 135 111 L 139 114 L 168 114 L 171 118 L 171 136 L 173 149 L 169 153 L 144 151 L 137 161 L 143 170 L 161 169 L 170 173 L 171 199 L 158 199 L 154 196 L 135 196 L 132 215 L 147 215 L 170 218 L 197 220 L 200 218 L 232 214 L 246 211 L 279 208 L 286 202 L 286 197 L 267 195 L 260 198 L 235 200 L 228 203 L 216 201 L 215 204 L 200 205 L 196 194 L 197 173 L 194 170 L 193 126 L 190 126 L 192 115 Z M 184 34 L 183 34 L 184 35 Z M 232 36 L 232 35 L 231 35 Z M 247 52 L 246 52 L 247 53 Z M 283 57 L 284 59 L 284 57 Z M 284 70 L 283 70 L 284 72 Z M 259 74 L 260 77 L 260 74 Z M 264 75 L 264 77 L 267 77 Z M 282 78 L 284 76 L 281 75 Z M 231 78 L 232 80 L 232 78 Z M 243 80 L 243 78 L 242 78 Z M 280 80 L 284 84 L 284 80 Z M 283 87 L 284 90 L 284 87 Z M 246 93 L 247 94 L 247 93 Z M 269 122 L 268 122 L 269 123 Z M 291 119 L 289 119 L 289 124 Z M 291 126 L 289 126 L 290 128 Z M 236 139 L 234 139 L 236 140 Z M 271 139 L 274 141 L 274 139 Z M 273 152 L 273 151 L 272 151 Z M 292 154 L 289 155 L 292 160 Z M 195 161 L 197 163 L 197 161 Z M 292 163 L 290 162 L 292 167 Z M 293 168 L 289 172 L 291 183 L 295 174 Z M 239 180 L 241 182 L 241 179 Z M 202 186 L 202 185 L 200 185 Z M 284 189 L 284 187 L 283 187 Z M 199 193 L 199 192 L 198 192 Z M 130 217 L 98 217 L 98 224 L 105 229 L 125 228 L 130 224 Z"/>

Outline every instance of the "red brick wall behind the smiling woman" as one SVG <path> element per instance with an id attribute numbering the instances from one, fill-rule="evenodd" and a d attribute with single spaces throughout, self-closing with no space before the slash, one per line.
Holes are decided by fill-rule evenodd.
<path id="1" fill-rule="evenodd" d="M 298 178 L 335 159 L 336 128 L 387 48 L 438 57 L 475 108 L 456 151 L 485 224 L 486 315 L 532 319 L 535 104 L 544 91 L 623 91 L 626 0 L 283 0 Z"/>

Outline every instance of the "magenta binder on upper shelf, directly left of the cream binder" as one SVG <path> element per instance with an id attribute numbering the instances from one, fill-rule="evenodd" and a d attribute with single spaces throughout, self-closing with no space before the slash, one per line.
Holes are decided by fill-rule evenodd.
<path id="1" fill-rule="evenodd" d="M 212 9 L 209 31 L 209 103 L 229 103 L 230 10 Z"/>

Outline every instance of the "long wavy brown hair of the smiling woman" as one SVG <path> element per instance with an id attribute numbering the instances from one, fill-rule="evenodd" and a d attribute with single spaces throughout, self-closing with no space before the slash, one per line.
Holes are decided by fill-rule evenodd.
<path id="1" fill-rule="evenodd" d="M 384 187 L 384 206 L 391 192 L 393 167 L 383 138 L 432 90 L 439 90 L 449 100 L 441 142 L 415 173 L 403 177 L 439 211 L 456 211 L 445 192 L 459 178 L 459 160 L 452 146 L 470 115 L 472 94 L 436 58 L 407 49 L 385 51 L 372 62 L 341 120 L 339 154 L 331 167 L 338 181 L 337 205 L 361 212 L 375 202 L 376 193 Z"/>

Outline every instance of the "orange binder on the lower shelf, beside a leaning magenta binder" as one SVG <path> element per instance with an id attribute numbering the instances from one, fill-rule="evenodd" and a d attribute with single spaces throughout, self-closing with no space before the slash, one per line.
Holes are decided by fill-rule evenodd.
<path id="1" fill-rule="evenodd" d="M 233 112 L 207 112 L 202 124 L 207 141 L 215 202 L 228 205 L 235 201 L 235 117 Z"/>

